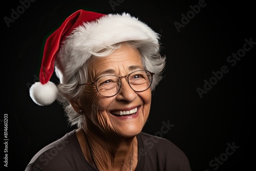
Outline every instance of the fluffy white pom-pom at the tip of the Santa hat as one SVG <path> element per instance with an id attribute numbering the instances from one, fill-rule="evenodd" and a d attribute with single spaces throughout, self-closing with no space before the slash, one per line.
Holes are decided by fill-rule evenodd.
<path id="1" fill-rule="evenodd" d="M 32 100 L 38 105 L 50 105 L 57 98 L 58 88 L 49 81 L 46 84 L 35 82 L 29 89 Z"/>

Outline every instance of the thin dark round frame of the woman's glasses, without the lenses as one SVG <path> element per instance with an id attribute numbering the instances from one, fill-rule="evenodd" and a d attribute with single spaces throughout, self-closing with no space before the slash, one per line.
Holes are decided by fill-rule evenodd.
<path id="1" fill-rule="evenodd" d="M 152 72 L 147 71 L 147 70 L 136 70 L 136 71 L 133 71 L 133 72 L 131 72 L 131 73 L 127 74 L 127 75 L 124 75 L 124 76 L 117 76 L 117 75 L 110 74 L 110 75 L 112 75 L 112 76 L 116 76 L 116 77 L 119 79 L 119 81 L 120 81 L 120 86 L 119 86 L 119 89 L 118 89 L 117 93 L 119 93 L 119 91 L 120 91 L 120 89 L 121 89 L 121 87 L 122 87 L 122 81 L 121 81 L 122 78 L 126 78 L 126 81 L 128 82 L 129 86 L 130 86 L 131 89 L 132 89 L 133 91 L 135 91 L 135 92 L 143 92 L 143 91 L 145 91 L 145 90 L 148 89 L 148 88 L 146 88 L 145 90 L 142 90 L 142 91 L 136 91 L 136 90 L 134 90 L 134 89 L 132 88 L 132 86 L 130 85 L 129 76 L 130 76 L 131 74 L 135 73 L 135 72 L 138 72 L 138 71 L 145 71 L 145 72 L 150 73 L 150 75 L 151 75 L 151 82 L 150 82 L 150 85 L 148 86 L 148 88 L 151 87 L 151 84 L 152 84 L 152 81 L 153 81 L 153 75 L 154 75 L 155 73 L 152 73 Z M 110 76 L 110 75 L 104 75 L 104 76 Z M 101 76 L 101 77 L 97 78 L 97 79 L 96 79 L 95 81 L 93 81 L 93 82 L 87 82 L 87 83 L 78 84 L 78 86 L 89 85 L 89 84 L 95 84 L 96 89 L 97 89 L 98 93 L 99 93 L 101 96 L 103 96 L 103 97 L 113 97 L 113 96 L 117 95 L 117 93 L 116 93 L 116 94 L 114 94 L 114 95 L 112 95 L 112 96 L 104 96 L 104 95 L 102 95 L 102 94 L 99 92 L 98 86 L 97 86 L 97 82 L 98 82 L 98 80 L 99 80 L 100 78 L 102 78 L 102 77 L 104 77 L 104 76 Z"/>

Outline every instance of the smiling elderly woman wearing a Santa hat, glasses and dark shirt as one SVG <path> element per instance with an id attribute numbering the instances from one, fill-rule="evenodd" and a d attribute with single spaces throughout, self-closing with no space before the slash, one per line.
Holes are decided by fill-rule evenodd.
<path id="1" fill-rule="evenodd" d="M 142 132 L 165 67 L 159 38 L 128 13 L 70 15 L 46 41 L 30 96 L 38 105 L 57 100 L 77 129 L 25 170 L 191 170 L 175 144 Z"/>

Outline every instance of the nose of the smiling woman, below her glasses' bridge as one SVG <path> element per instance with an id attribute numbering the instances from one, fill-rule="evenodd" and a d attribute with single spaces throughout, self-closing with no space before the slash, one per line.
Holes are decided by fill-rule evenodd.
<path id="1" fill-rule="evenodd" d="M 137 93 L 130 87 L 126 78 L 121 79 L 121 88 L 118 92 L 117 100 L 133 101 L 137 97 Z"/>

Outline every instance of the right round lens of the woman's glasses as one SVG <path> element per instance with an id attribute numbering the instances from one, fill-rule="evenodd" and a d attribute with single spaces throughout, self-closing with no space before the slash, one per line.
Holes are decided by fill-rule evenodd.
<path id="1" fill-rule="evenodd" d="M 129 76 L 129 83 L 134 91 L 141 92 L 151 86 L 152 76 L 148 71 L 136 71 Z"/>

